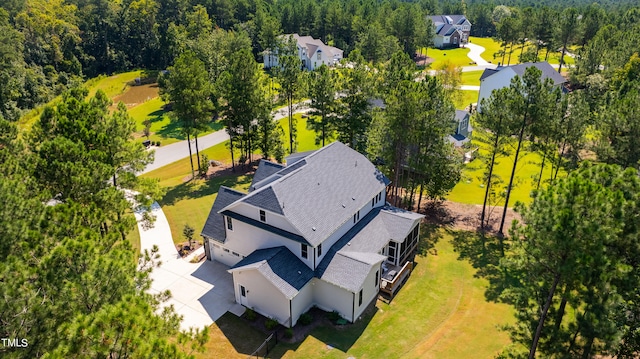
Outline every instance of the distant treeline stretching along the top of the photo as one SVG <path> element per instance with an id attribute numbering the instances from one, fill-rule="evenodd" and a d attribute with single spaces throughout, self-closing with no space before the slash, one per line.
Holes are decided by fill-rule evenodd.
<path id="1" fill-rule="evenodd" d="M 358 48 L 367 60 L 384 61 L 397 48 L 413 56 L 430 44 L 427 15 L 464 13 L 473 23 L 472 35 L 494 36 L 505 12 L 525 6 L 509 4 L 512 6 L 434 0 L 5 1 L 0 5 L 0 82 L 4 84 L 0 115 L 16 120 L 25 109 L 100 74 L 165 69 L 177 56 L 175 48 L 184 32 L 204 25 L 197 23 L 202 19 L 201 9 L 214 28 L 247 33 L 258 61 L 274 34 L 294 32 L 320 38 L 346 54 Z M 555 28 L 567 4 L 536 4 L 535 16 L 525 12 L 523 19 L 530 24 L 539 19 L 545 21 L 541 27 Z M 580 14 L 595 9 L 602 17 L 601 26 L 624 25 L 625 4 L 575 2 Z M 550 46 L 551 42 L 545 42 Z"/>

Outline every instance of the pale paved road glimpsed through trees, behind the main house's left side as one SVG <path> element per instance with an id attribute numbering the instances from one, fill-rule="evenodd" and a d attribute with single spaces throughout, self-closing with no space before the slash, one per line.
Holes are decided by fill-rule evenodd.
<path id="1" fill-rule="evenodd" d="M 305 113 L 309 111 L 308 108 L 309 101 L 304 101 L 296 106 L 294 106 L 293 113 Z M 273 113 L 274 120 L 280 120 L 287 117 L 289 114 L 288 108 L 282 108 Z M 198 148 L 200 151 L 207 149 L 209 147 L 213 147 L 219 143 L 222 143 L 229 139 L 229 135 L 225 130 L 216 131 L 210 133 L 208 135 L 198 137 Z M 191 140 L 191 149 L 195 154 L 195 141 Z M 159 148 L 155 148 L 155 158 L 153 163 L 147 165 L 147 167 L 140 172 L 140 174 L 147 173 L 158 169 L 160 167 L 166 166 L 170 163 L 176 162 L 183 158 L 189 157 L 189 147 L 187 146 L 187 141 L 174 142 L 170 145 L 161 146 Z"/>

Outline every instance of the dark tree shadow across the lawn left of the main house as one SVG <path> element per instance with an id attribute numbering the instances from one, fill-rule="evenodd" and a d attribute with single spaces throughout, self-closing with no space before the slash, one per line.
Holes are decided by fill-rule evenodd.
<path id="1" fill-rule="evenodd" d="M 173 205 L 184 199 L 200 198 L 217 193 L 220 186 L 234 187 L 251 182 L 251 176 L 220 176 L 207 180 L 196 180 L 171 187 L 160 201 L 161 206 Z"/>

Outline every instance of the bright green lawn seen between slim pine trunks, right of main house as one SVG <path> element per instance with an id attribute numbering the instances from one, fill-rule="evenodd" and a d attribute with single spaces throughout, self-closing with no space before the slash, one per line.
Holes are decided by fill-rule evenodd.
<path id="1" fill-rule="evenodd" d="M 479 147 L 479 154 L 481 156 L 488 156 L 488 146 L 481 142 L 480 139 L 485 137 L 487 133 L 474 129 L 472 138 L 472 147 Z M 509 205 L 513 206 L 516 201 L 529 203 L 531 201 L 530 194 L 534 188 L 534 179 L 537 178 L 540 173 L 540 163 L 542 158 L 538 153 L 529 152 L 526 150 L 529 143 L 524 143 L 524 151 L 521 151 L 518 158 L 518 166 L 516 168 L 514 188 L 511 192 L 511 198 Z M 510 152 L 515 153 L 515 149 Z M 477 153 L 476 153 L 477 154 Z M 476 156 L 478 157 L 478 156 Z M 494 169 L 494 173 L 500 176 L 504 181 L 504 186 L 509 183 L 509 177 L 511 176 L 511 169 L 513 167 L 513 155 L 510 157 L 498 157 L 497 165 Z M 484 200 L 485 187 L 480 177 L 485 169 L 485 164 L 481 159 L 476 158 L 471 163 L 464 166 L 462 170 L 462 179 L 453 188 L 453 191 L 447 197 L 448 200 L 454 202 L 468 203 L 468 204 L 482 204 Z M 548 179 L 551 175 L 551 166 L 547 161 L 543 173 L 543 180 Z M 544 183 L 544 182 L 543 182 Z"/>

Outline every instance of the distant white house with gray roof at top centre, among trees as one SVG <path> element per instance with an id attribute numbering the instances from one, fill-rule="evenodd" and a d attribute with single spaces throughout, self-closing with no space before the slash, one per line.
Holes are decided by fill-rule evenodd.
<path id="1" fill-rule="evenodd" d="M 321 65 L 334 66 L 342 60 L 343 51 L 337 47 L 325 45 L 321 40 L 311 36 L 300 36 L 298 34 L 282 35 L 285 41 L 289 37 L 296 40 L 298 57 L 302 62 L 302 68 L 313 71 Z M 264 67 L 270 68 L 278 66 L 278 52 L 265 51 Z"/>

